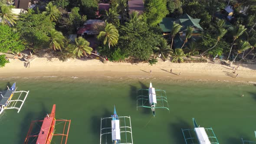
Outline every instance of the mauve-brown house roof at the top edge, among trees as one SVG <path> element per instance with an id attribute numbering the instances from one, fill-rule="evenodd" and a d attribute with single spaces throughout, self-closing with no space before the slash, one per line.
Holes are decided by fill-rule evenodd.
<path id="1" fill-rule="evenodd" d="M 143 0 L 128 0 L 128 7 L 129 13 L 136 10 L 139 14 L 142 14 L 144 10 Z"/>

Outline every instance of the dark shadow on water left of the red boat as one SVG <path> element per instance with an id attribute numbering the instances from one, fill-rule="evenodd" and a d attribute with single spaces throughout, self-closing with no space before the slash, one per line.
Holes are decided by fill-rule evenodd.
<path id="1" fill-rule="evenodd" d="M 36 121 L 36 120 L 41 120 L 46 116 L 46 113 L 50 113 L 50 111 L 48 109 L 46 109 L 46 106 L 41 103 L 41 107 L 39 107 L 42 111 L 40 112 L 33 112 L 33 111 L 28 111 L 26 112 L 26 115 L 23 118 L 23 121 L 21 121 L 20 123 L 20 131 L 19 131 L 19 140 L 17 141 L 16 144 L 23 144 L 26 138 L 26 135 L 29 131 L 30 128 L 30 124 L 32 121 Z M 33 135 L 37 135 L 39 134 L 39 131 L 41 129 L 40 125 L 42 123 L 38 123 L 38 124 L 34 124 L 33 125 L 33 130 L 31 131 L 31 134 Z M 35 137 L 32 137 L 31 140 L 33 141 Z M 32 142 L 31 141 L 31 142 Z M 34 143 L 36 142 L 36 140 L 34 140 Z M 33 144 L 33 143 L 31 143 Z"/>

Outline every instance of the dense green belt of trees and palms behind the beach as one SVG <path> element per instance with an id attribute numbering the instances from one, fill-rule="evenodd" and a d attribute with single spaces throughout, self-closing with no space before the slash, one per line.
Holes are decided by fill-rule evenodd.
<path id="1" fill-rule="evenodd" d="M 104 2 L 110 3 L 109 10 L 99 10 L 101 0 L 40 2 L 34 10 L 29 9 L 18 16 L 11 12 L 13 6 L 8 6 L 7 0 L 0 0 L 0 52 L 18 54 L 24 49 L 33 52 L 52 49 L 62 60 L 88 56 L 93 49 L 87 37 L 79 37 L 73 42 L 67 37 L 77 33 L 87 19 L 99 19 L 105 23 L 93 26 L 99 33 L 94 37 L 97 37 L 94 49 L 111 61 L 131 59 L 154 63 L 159 58 L 166 60 L 171 56 L 173 62 L 183 62 L 184 56 L 204 55 L 223 55 L 234 61 L 241 59 L 240 53 L 244 60 L 255 59 L 256 0 L 230 0 L 234 10 L 230 21 L 225 18 L 225 0 L 144 0 L 141 15 L 137 11 L 128 13 L 126 0 Z M 65 11 L 71 13 L 67 15 Z M 176 22 L 171 32 L 163 36 L 159 27 L 162 19 L 178 18 L 186 13 L 200 19 L 202 33 L 195 38 L 194 27 L 184 28 Z M 177 47 L 181 29 L 184 36 L 181 46 Z"/>

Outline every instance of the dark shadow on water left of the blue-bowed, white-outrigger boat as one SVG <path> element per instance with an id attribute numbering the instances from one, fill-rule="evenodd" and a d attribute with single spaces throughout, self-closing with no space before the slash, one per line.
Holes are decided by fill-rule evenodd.
<path id="1" fill-rule="evenodd" d="M 111 115 L 113 115 L 113 112 L 108 111 L 108 109 L 102 110 L 104 111 L 102 115 L 93 115 L 91 117 L 91 131 L 93 134 L 99 136 L 101 132 L 101 118 L 109 118 Z M 106 127 L 105 121 L 102 121 L 102 128 Z M 98 140 L 100 141 L 100 140 Z"/>

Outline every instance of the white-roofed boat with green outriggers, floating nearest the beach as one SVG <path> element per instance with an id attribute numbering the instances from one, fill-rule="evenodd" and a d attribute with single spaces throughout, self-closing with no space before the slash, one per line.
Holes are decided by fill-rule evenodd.
<path id="1" fill-rule="evenodd" d="M 159 102 L 158 102 L 159 101 Z M 148 102 L 148 104 L 146 104 Z M 158 106 L 157 106 L 158 103 Z M 155 89 L 150 82 L 148 89 L 138 89 L 137 91 L 137 111 L 138 107 L 151 108 L 153 116 L 155 116 L 156 108 L 164 108 L 169 110 L 166 92 L 161 89 Z"/>

